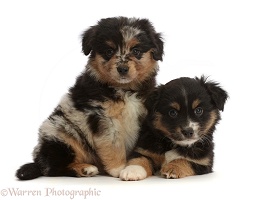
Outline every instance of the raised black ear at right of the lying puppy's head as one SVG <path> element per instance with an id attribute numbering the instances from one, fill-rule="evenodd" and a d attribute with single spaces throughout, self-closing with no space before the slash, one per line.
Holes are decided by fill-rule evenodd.
<path id="1" fill-rule="evenodd" d="M 206 89 L 208 94 L 211 96 L 213 103 L 215 106 L 223 111 L 225 102 L 228 98 L 228 94 L 225 90 L 223 90 L 218 83 L 213 81 L 207 81 L 207 78 L 201 76 L 200 79 L 196 77 L 196 80 L 200 82 L 200 84 Z"/>

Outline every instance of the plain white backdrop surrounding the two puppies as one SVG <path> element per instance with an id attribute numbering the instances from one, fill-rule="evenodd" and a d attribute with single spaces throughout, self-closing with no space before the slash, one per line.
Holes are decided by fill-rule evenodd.
<path id="1" fill-rule="evenodd" d="M 246 0 L 0 0 L 0 199 L 85 199 L 85 192 L 86 199 L 253 199 L 253 10 Z M 38 127 L 84 69 L 80 34 L 114 16 L 148 18 L 163 34 L 158 83 L 204 74 L 228 91 L 215 132 L 214 173 L 140 182 L 17 181 L 15 170 L 32 161 Z"/>

